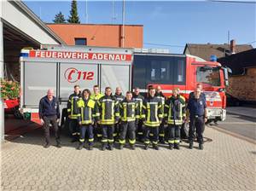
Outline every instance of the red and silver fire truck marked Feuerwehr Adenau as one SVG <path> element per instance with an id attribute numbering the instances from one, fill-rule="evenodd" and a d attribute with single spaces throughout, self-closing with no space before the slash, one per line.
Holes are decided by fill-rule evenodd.
<path id="1" fill-rule="evenodd" d="M 160 85 L 166 96 L 178 87 L 188 99 L 198 83 L 206 94 L 209 118 L 224 120 L 228 72 L 216 61 L 157 49 L 42 45 L 20 52 L 20 112 L 36 123 L 38 102 L 48 89 L 55 90 L 65 108 L 75 84 L 90 90 L 98 84 L 102 92 L 107 86 L 123 92 L 138 87 L 144 95 L 148 85 Z"/>

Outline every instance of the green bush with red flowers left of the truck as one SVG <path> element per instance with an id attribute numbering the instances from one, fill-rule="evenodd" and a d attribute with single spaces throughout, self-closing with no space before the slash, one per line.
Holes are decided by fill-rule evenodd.
<path id="1" fill-rule="evenodd" d="M 1 79 L 0 93 L 3 100 L 13 100 L 20 97 L 20 84 Z"/>

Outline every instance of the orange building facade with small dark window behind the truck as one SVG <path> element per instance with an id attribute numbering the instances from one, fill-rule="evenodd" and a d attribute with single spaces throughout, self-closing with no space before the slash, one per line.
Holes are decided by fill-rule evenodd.
<path id="1" fill-rule="evenodd" d="M 142 25 L 47 24 L 68 45 L 143 48 Z"/>

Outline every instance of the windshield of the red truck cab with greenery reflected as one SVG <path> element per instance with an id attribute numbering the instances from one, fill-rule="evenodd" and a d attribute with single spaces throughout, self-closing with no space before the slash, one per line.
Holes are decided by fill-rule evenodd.
<path id="1" fill-rule="evenodd" d="M 212 67 L 211 69 L 206 69 L 205 67 L 197 67 L 196 81 L 205 84 L 211 84 L 212 86 L 220 86 L 218 67 Z"/>

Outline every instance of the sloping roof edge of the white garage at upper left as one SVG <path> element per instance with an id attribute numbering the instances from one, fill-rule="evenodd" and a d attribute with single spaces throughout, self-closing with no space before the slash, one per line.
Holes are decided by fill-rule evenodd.
<path id="1" fill-rule="evenodd" d="M 13 3 L 15 6 L 19 7 L 20 10 L 22 10 L 29 18 L 31 18 L 35 23 L 38 24 L 38 26 L 46 33 L 49 34 L 50 37 L 54 38 L 58 43 L 65 44 L 65 42 L 55 34 L 48 26 L 44 24 L 43 20 L 40 20 L 36 14 L 32 12 L 31 9 L 29 9 L 25 3 L 23 3 L 20 0 L 17 1 L 9 1 L 10 3 Z"/>

